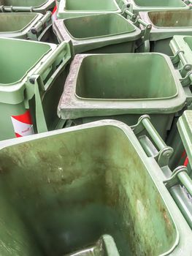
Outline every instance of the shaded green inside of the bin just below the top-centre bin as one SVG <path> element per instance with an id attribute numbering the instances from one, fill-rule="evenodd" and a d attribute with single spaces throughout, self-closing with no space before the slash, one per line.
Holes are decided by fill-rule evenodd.
<path id="1" fill-rule="evenodd" d="M 64 26 L 69 34 L 77 39 L 107 37 L 110 35 L 126 34 L 135 30 L 128 20 L 118 14 L 69 18 L 64 20 Z"/>

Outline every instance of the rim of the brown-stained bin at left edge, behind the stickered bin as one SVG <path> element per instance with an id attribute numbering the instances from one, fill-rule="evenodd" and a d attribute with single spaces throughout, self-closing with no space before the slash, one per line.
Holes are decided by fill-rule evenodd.
<path id="1" fill-rule="evenodd" d="M 18 33 L 22 33 L 23 31 L 30 31 L 31 27 L 34 26 L 35 23 L 37 23 L 37 21 L 39 21 L 43 15 L 42 13 L 39 12 L 0 12 L 0 18 L 1 15 L 17 15 L 17 16 L 22 16 L 22 15 L 35 15 L 35 17 L 26 25 L 24 26 L 22 29 L 20 30 L 13 30 L 13 31 L 0 31 L 0 36 L 1 34 L 18 34 Z M 1 36 L 4 37 L 4 36 Z M 5 36 L 7 37 L 7 35 Z"/>

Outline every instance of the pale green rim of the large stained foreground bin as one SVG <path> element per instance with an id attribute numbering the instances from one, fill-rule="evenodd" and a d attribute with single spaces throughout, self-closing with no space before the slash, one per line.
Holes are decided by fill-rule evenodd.
<path id="1" fill-rule="evenodd" d="M 172 219 L 172 223 L 175 228 L 176 237 L 175 237 L 174 244 L 172 244 L 169 251 L 164 252 L 163 254 L 161 254 L 161 256 L 169 255 L 171 252 L 173 253 L 175 252 L 175 255 L 179 256 L 180 252 L 186 252 L 184 246 L 191 244 L 190 243 L 192 238 L 191 229 L 188 226 L 187 222 L 185 221 L 183 214 L 180 212 L 179 208 L 177 208 L 176 203 L 174 203 L 174 200 L 172 196 L 169 194 L 169 191 L 166 189 L 164 185 L 164 180 L 166 180 L 166 176 L 164 175 L 162 170 L 159 170 L 160 167 L 158 163 L 155 161 L 155 159 L 153 157 L 147 157 L 147 155 L 145 154 L 145 151 L 143 150 L 141 144 L 139 143 L 139 140 L 134 135 L 134 132 L 131 130 L 130 127 L 128 127 L 128 125 L 124 124 L 123 122 L 106 119 L 106 120 L 94 121 L 88 124 L 81 124 L 76 127 L 58 129 L 51 132 L 43 132 L 36 135 L 28 135 L 23 138 L 1 140 L 0 150 L 4 150 L 6 148 L 27 143 L 30 141 L 51 138 L 51 137 L 66 134 L 66 133 L 87 130 L 87 129 L 94 129 L 98 127 L 115 127 L 117 129 L 120 129 L 121 132 L 123 132 L 126 138 L 130 141 L 131 145 L 137 150 L 139 157 L 141 157 L 141 160 L 145 165 L 145 168 L 147 169 L 148 175 L 152 179 L 153 184 L 155 184 L 155 188 L 158 190 L 158 193 L 161 196 L 161 200 L 164 202 L 164 205 L 166 206 L 166 209 L 169 212 L 170 219 Z M 151 168 L 152 166 L 153 168 Z M 185 230 L 185 232 L 188 233 L 188 236 L 185 238 L 183 238 L 185 234 L 183 230 Z M 184 247 L 183 250 L 182 248 L 180 248 L 180 246 Z M 188 249 L 188 252 L 191 252 L 190 248 Z"/>

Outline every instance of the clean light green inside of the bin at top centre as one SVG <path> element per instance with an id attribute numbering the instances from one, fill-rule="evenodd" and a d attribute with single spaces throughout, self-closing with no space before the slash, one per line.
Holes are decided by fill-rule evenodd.
<path id="1" fill-rule="evenodd" d="M 65 10 L 70 11 L 118 10 L 115 0 L 66 0 L 65 4 Z"/>

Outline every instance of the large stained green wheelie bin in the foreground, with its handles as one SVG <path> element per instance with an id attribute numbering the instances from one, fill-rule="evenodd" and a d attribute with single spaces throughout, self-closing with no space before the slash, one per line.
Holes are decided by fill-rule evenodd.
<path id="1" fill-rule="evenodd" d="M 1 255 L 191 255 L 188 212 L 172 195 L 190 202 L 148 116 L 132 129 L 97 121 L 0 147 Z M 90 253 L 106 235 L 114 249 Z"/>

